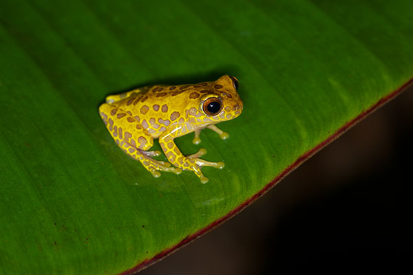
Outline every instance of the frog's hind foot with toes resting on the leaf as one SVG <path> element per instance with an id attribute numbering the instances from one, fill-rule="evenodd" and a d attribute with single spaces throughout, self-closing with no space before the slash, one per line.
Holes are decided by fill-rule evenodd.
<path id="1" fill-rule="evenodd" d="M 153 177 L 160 177 L 159 171 L 172 172 L 176 175 L 182 173 L 182 169 L 171 166 L 169 162 L 162 162 L 160 160 L 152 159 L 151 156 L 160 155 L 159 151 L 143 151 L 138 149 L 136 158 L 142 165 L 151 172 Z"/>

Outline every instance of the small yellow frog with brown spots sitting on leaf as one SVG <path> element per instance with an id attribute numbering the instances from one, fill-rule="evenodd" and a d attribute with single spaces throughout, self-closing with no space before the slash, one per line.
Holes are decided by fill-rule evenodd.
<path id="1" fill-rule="evenodd" d="M 149 85 L 107 96 L 99 114 L 116 144 L 153 177 L 160 177 L 160 171 L 179 175 L 182 170 L 190 170 L 206 184 L 209 179 L 201 168 L 222 169 L 224 162 L 201 159 L 207 153 L 204 148 L 183 155 L 174 139 L 194 133 L 193 143 L 200 144 L 200 132 L 205 128 L 218 133 L 222 140 L 228 138 L 229 134 L 215 124 L 242 113 L 244 104 L 238 86 L 237 78 L 229 75 L 196 84 Z M 161 154 L 149 150 L 156 139 L 168 162 L 153 159 Z"/>

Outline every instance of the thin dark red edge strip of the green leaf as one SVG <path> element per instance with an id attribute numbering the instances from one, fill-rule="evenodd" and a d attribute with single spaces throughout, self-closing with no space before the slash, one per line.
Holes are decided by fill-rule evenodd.
<path id="1" fill-rule="evenodd" d="M 153 258 L 147 259 L 145 261 L 142 261 L 142 262 L 138 263 L 138 265 L 136 265 L 135 267 L 132 267 L 129 270 L 126 270 L 125 272 L 122 272 L 120 275 L 135 274 L 136 272 L 138 272 L 140 270 L 143 270 L 146 267 L 149 267 L 150 265 L 153 265 L 154 263 L 164 259 L 166 256 L 169 256 L 169 254 L 172 254 L 173 252 L 175 252 L 179 248 L 182 248 L 184 245 L 188 245 L 189 243 L 191 243 L 192 241 L 194 241 L 198 237 L 200 237 L 204 234 L 207 234 L 207 232 L 213 230 L 218 225 L 221 225 L 225 221 L 231 219 L 232 217 L 235 216 L 235 214 L 237 214 L 237 213 L 241 212 L 242 210 L 244 210 L 244 208 L 246 208 L 246 206 L 253 203 L 259 197 L 262 197 L 262 195 L 264 195 L 266 192 L 268 192 L 268 190 L 270 190 L 275 185 L 277 185 L 279 183 L 279 181 L 284 179 L 284 177 L 286 177 L 289 173 L 291 173 L 293 170 L 298 168 L 298 166 L 303 164 L 307 159 L 309 159 L 315 153 L 317 153 L 322 148 L 326 147 L 328 144 L 330 144 L 331 142 L 336 140 L 337 137 L 340 137 L 343 133 L 346 133 L 346 131 L 348 131 L 348 129 L 350 129 L 352 126 L 356 125 L 361 120 L 366 118 L 373 111 L 376 111 L 377 109 L 382 107 L 383 104 L 385 104 L 385 103 L 389 102 L 390 100 L 396 98 L 396 96 L 399 96 L 399 94 L 401 94 L 401 92 L 403 90 L 405 90 L 410 85 L 413 85 L 413 78 L 408 80 L 405 84 L 401 85 L 401 87 L 399 87 L 399 89 L 396 89 L 392 93 L 388 94 L 388 96 L 385 96 L 385 97 L 381 98 L 379 101 L 377 101 L 374 105 L 372 105 L 372 107 L 370 107 L 366 111 L 361 112 L 359 115 L 357 115 L 356 118 L 354 118 L 353 120 L 350 120 L 350 122 L 348 122 L 347 124 L 342 126 L 335 133 L 333 133 L 332 135 L 327 137 L 326 140 L 324 140 L 323 142 L 321 142 L 320 144 L 315 146 L 313 149 L 311 149 L 307 153 L 304 153 L 303 155 L 301 155 L 301 157 L 298 157 L 297 160 L 293 164 L 288 166 L 285 170 L 282 171 L 282 173 L 277 175 L 277 177 L 275 177 L 275 179 L 273 179 L 268 184 L 266 184 L 266 186 L 264 186 L 264 188 L 262 188 L 262 190 L 260 190 L 255 195 L 253 195 L 252 197 L 250 197 L 249 199 L 244 201 L 244 203 L 241 203 L 240 206 L 237 206 L 235 209 L 231 210 L 231 212 L 226 214 L 224 217 L 221 217 L 220 219 L 217 219 L 217 220 L 213 221 L 213 223 L 207 225 L 207 227 L 202 228 L 198 232 L 195 232 L 194 234 L 185 237 L 184 239 L 182 239 L 182 241 L 180 241 L 180 243 L 174 245 L 172 248 L 168 248 L 167 250 L 164 250 L 164 251 L 156 254 L 156 256 L 153 256 Z"/>

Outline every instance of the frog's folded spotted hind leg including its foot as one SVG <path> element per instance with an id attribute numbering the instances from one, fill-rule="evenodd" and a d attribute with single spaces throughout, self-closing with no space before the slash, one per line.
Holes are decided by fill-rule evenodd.
<path id="1" fill-rule="evenodd" d="M 160 176 L 158 170 L 176 174 L 181 172 L 179 168 L 170 167 L 169 162 L 161 162 L 151 158 L 160 155 L 160 152 L 147 151 L 153 145 L 153 139 L 129 113 L 106 103 L 100 105 L 99 113 L 116 144 L 127 155 L 138 159 L 154 177 Z"/>

